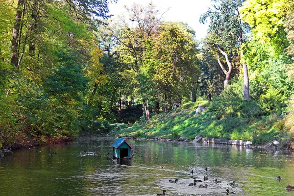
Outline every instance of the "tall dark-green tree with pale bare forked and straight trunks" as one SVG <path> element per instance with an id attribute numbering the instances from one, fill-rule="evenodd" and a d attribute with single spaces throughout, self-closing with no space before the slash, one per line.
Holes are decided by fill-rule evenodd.
<path id="1" fill-rule="evenodd" d="M 227 79 L 230 76 L 230 64 L 228 61 L 227 52 L 239 53 L 240 59 L 243 58 L 243 44 L 244 33 L 247 32 L 247 26 L 239 19 L 239 9 L 244 0 L 213 0 L 213 4 L 208 10 L 201 15 L 200 22 L 205 23 L 206 19 L 210 19 L 210 24 L 208 30 L 214 34 L 217 38 L 218 43 L 217 48 L 226 57 L 226 62 L 228 64 L 229 70 L 222 70 L 226 74 L 226 80 L 224 84 L 227 83 Z M 244 98 L 249 99 L 249 78 L 247 65 L 244 60 L 241 60 L 243 66 L 244 75 Z"/>

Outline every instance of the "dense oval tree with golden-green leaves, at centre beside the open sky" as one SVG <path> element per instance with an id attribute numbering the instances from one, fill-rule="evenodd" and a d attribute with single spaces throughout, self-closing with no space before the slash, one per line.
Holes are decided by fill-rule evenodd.
<path id="1" fill-rule="evenodd" d="M 190 97 L 190 92 L 196 87 L 199 74 L 197 45 L 187 25 L 166 22 L 158 30 L 151 56 L 153 83 L 157 94 L 164 100 L 165 108 L 167 105 L 171 108 L 172 101 Z M 188 94 L 187 89 L 190 90 Z"/>

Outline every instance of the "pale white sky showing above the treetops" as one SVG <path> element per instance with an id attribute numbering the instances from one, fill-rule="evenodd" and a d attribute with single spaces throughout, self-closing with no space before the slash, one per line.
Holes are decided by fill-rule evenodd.
<path id="1" fill-rule="evenodd" d="M 133 3 L 147 5 L 151 0 L 118 0 L 116 4 L 109 3 L 110 14 L 116 16 L 125 11 L 123 5 L 130 7 Z M 182 21 L 196 31 L 196 39 L 201 39 L 207 34 L 208 24 L 200 24 L 199 16 L 210 5 L 210 0 L 152 0 L 159 10 L 167 10 L 163 16 L 164 21 Z"/>

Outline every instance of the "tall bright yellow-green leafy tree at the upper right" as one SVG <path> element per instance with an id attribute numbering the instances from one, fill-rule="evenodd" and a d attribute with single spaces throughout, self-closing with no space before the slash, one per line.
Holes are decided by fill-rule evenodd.
<path id="1" fill-rule="evenodd" d="M 284 29 L 285 12 L 290 4 L 285 0 L 247 0 L 240 9 L 240 17 L 251 28 L 244 59 L 251 68 L 254 98 L 269 88 L 279 89 L 286 96 L 292 94 L 293 84 L 285 69 L 291 67 L 286 66 L 291 64 L 291 59 L 286 55 L 289 43 Z"/>

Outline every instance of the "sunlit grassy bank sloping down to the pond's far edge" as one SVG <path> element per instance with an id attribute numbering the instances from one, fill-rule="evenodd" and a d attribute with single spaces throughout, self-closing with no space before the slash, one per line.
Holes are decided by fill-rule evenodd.
<path id="1" fill-rule="evenodd" d="M 208 110 L 196 116 L 198 104 Z M 154 115 L 149 121 L 140 121 L 130 127 L 123 124 L 112 127 L 109 134 L 116 136 L 189 137 L 193 140 L 196 135 L 202 135 L 207 138 L 250 140 L 256 145 L 277 140 L 285 146 L 292 138 L 285 128 L 283 113 L 268 113 L 257 101 L 240 98 L 188 103 L 170 112 Z"/>

